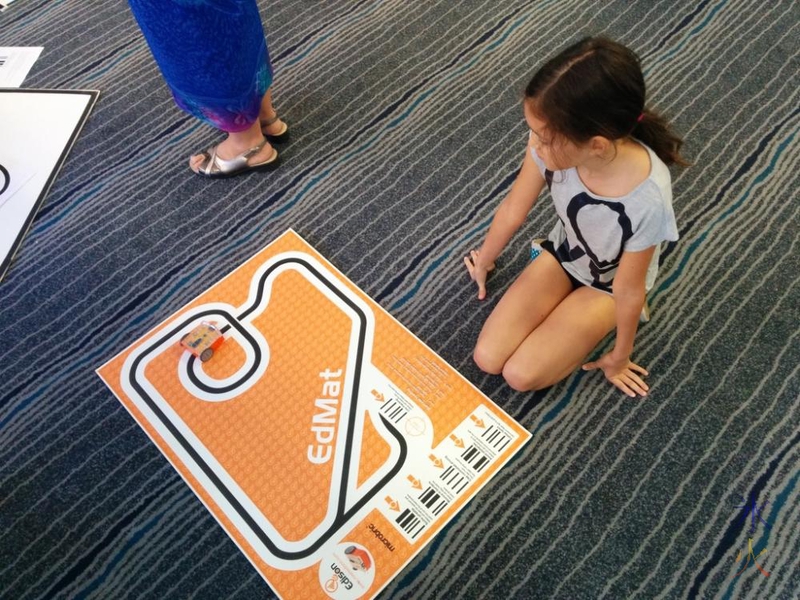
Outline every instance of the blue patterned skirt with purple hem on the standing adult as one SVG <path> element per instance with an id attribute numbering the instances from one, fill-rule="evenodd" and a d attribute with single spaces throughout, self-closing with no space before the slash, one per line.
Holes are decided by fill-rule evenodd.
<path id="1" fill-rule="evenodd" d="M 223 131 L 258 118 L 272 83 L 255 0 L 128 0 L 178 106 Z"/>

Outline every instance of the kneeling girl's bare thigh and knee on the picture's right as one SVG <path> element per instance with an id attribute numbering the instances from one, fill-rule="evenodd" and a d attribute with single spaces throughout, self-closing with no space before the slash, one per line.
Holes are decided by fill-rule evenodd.
<path id="1" fill-rule="evenodd" d="M 575 371 L 615 325 L 613 296 L 578 288 L 519 345 L 503 377 L 519 391 L 551 386 Z"/>

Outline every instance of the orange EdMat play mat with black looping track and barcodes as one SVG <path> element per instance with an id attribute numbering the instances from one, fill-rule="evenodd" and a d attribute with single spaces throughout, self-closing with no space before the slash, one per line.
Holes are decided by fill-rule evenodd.
<path id="1" fill-rule="evenodd" d="M 98 373 L 285 598 L 374 596 L 530 437 L 293 231 Z"/>

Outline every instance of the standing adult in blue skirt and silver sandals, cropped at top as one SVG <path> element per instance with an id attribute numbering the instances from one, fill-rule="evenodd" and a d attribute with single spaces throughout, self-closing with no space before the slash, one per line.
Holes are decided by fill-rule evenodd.
<path id="1" fill-rule="evenodd" d="M 272 66 L 255 0 L 129 0 L 180 108 L 228 133 L 189 159 L 205 177 L 278 165 L 288 137 L 272 106 Z"/>

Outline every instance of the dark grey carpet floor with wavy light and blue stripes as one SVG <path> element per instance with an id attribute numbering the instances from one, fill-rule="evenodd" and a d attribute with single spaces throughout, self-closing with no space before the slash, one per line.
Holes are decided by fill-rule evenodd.
<path id="1" fill-rule="evenodd" d="M 382 598 L 800 597 L 800 4 L 260 4 L 293 141 L 218 182 L 124 2 L 0 14 L 0 44 L 44 46 L 25 87 L 101 92 L 0 284 L 0 597 L 274 597 L 94 369 L 289 227 L 533 433 Z M 524 84 L 586 33 L 640 54 L 693 163 L 645 400 L 583 372 L 519 394 L 471 360 L 553 211 L 484 303 L 462 257 L 525 151 Z M 736 576 L 749 539 L 769 576 Z"/>

